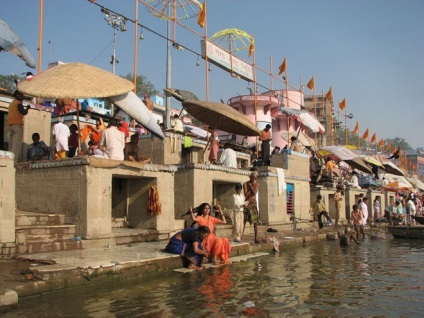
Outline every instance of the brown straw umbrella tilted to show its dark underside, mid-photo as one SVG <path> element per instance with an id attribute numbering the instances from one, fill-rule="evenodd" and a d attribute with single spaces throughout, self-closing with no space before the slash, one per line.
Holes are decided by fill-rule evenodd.
<path id="1" fill-rule="evenodd" d="M 260 135 L 258 128 L 246 116 L 227 104 L 186 100 L 183 107 L 191 116 L 214 129 L 241 136 Z"/>

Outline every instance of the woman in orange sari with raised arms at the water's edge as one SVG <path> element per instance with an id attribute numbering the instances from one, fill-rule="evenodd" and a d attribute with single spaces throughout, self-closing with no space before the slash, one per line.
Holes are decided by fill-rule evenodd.
<path id="1" fill-rule="evenodd" d="M 210 215 L 211 206 L 209 203 L 202 203 L 198 208 L 197 216 L 194 216 L 193 209 L 190 207 L 191 219 L 199 224 L 199 226 L 207 226 L 211 234 L 203 241 L 203 246 L 212 257 L 212 262 L 219 265 L 229 263 L 231 251 L 230 241 L 227 238 L 220 238 L 214 234 L 215 224 L 226 224 L 225 216 L 222 213 L 221 206 L 217 205 L 219 218 Z"/>

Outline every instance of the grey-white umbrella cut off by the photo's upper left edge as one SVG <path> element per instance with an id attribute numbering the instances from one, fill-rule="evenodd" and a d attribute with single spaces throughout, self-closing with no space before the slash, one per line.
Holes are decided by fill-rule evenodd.
<path id="1" fill-rule="evenodd" d="M 3 20 L 0 20 L 0 52 L 1 51 L 10 51 L 24 60 L 27 66 L 35 68 L 35 60 L 31 53 L 21 39 Z"/>

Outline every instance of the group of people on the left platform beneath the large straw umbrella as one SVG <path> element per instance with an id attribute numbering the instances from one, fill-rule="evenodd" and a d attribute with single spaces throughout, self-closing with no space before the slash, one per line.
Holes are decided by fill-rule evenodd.
<path id="1" fill-rule="evenodd" d="M 145 97 L 146 100 L 148 100 L 147 97 Z M 139 154 L 138 140 L 145 130 L 140 125 L 136 125 L 135 134 L 130 137 L 128 123 L 120 122 L 115 118 L 111 118 L 107 126 L 102 118 L 98 118 L 95 125 L 86 124 L 79 130 L 76 124 L 66 125 L 63 116 L 56 116 L 56 123 L 52 128 L 52 147 L 47 146 L 40 133 L 34 132 L 32 143 L 28 145 L 25 156 L 22 154 L 23 124 L 24 116 L 28 114 L 30 106 L 23 106 L 23 100 L 24 95 L 16 90 L 14 100 L 9 104 L 7 121 L 10 134 L 9 150 L 13 152 L 15 162 L 60 160 L 78 155 L 94 155 L 142 163 L 151 162 L 150 158 L 141 157 Z M 127 142 L 128 139 L 130 139 L 129 142 Z M 86 141 L 87 147 L 83 151 L 82 144 Z"/>

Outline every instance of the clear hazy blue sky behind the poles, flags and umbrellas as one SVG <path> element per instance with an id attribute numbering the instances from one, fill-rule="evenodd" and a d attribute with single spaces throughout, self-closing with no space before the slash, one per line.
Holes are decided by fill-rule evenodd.
<path id="1" fill-rule="evenodd" d="M 178 1 L 177 1 L 178 2 Z M 182 1 L 184 2 L 184 1 Z M 203 2 L 203 0 L 200 0 Z M 38 59 L 39 0 L 1 0 L 0 19 L 6 21 Z M 237 28 L 255 37 L 256 64 L 278 73 L 287 57 L 290 84 L 306 86 L 315 77 L 316 93 L 333 87 L 335 104 L 347 99 L 348 120 L 360 134 L 404 138 L 422 147 L 424 135 L 424 1 L 422 0 L 209 0 L 207 32 Z M 135 0 L 98 0 L 106 8 L 134 20 Z M 139 5 L 139 23 L 166 36 L 165 20 Z M 203 34 L 196 19 L 181 21 Z M 112 71 L 113 29 L 98 6 L 87 0 L 44 0 L 43 70 L 49 62 L 82 62 Z M 172 32 L 171 32 L 172 33 Z M 166 87 L 166 41 L 148 30 L 138 41 L 138 74 L 158 91 Z M 172 49 L 172 87 L 206 96 L 205 66 L 196 66 L 200 37 L 176 27 L 176 41 L 189 50 Z M 253 62 L 247 51 L 236 53 Z M 133 73 L 134 25 L 118 32 L 116 74 Z M 15 55 L 0 53 L 0 74 L 30 71 Z M 247 83 L 212 66 L 210 100 L 227 101 L 248 94 Z M 271 88 L 269 76 L 258 82 Z M 274 89 L 281 83 L 273 82 Z M 264 92 L 259 89 L 259 93 Z M 312 94 L 307 88 L 306 94 Z M 179 103 L 172 101 L 173 106 Z M 175 103 L 175 104 L 174 104 Z M 344 122 L 344 119 L 343 119 Z"/>

